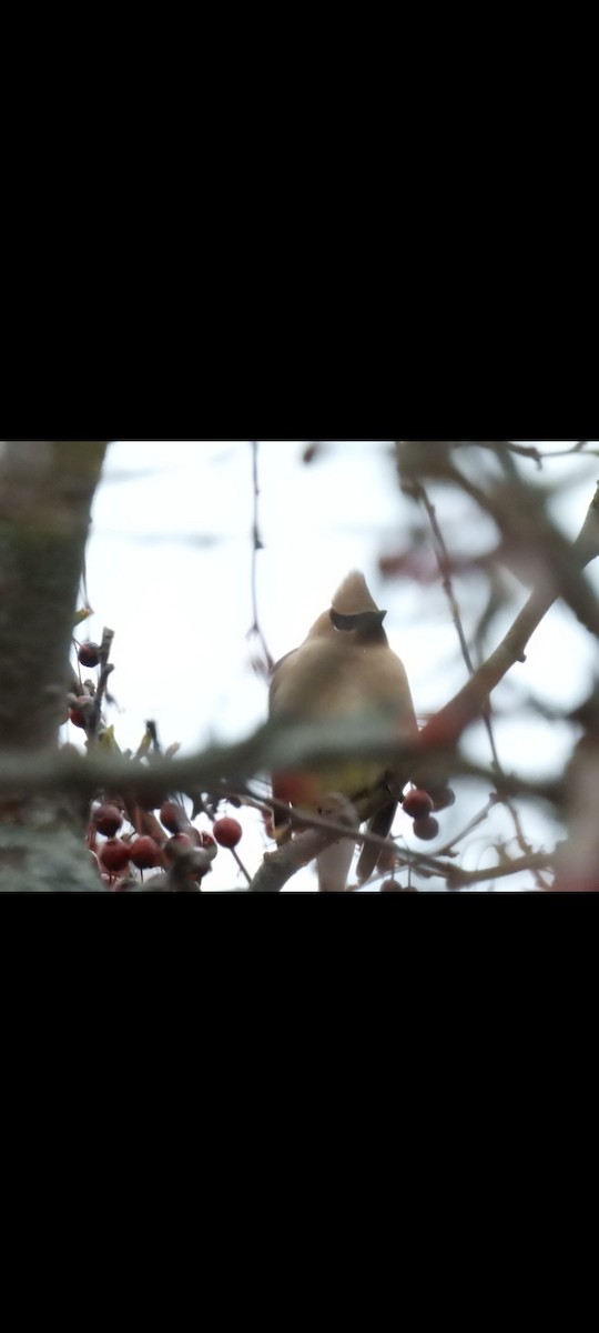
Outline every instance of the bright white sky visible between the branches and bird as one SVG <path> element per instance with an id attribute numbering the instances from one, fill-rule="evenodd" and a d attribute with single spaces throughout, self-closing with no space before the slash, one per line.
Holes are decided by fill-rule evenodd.
<path id="1" fill-rule="evenodd" d="M 555 452 L 558 444 L 539 443 Z M 257 591 L 262 632 L 274 659 L 297 647 L 315 616 L 351 568 L 361 568 L 373 596 L 387 608 L 385 628 L 406 664 L 417 712 L 441 706 L 466 678 L 446 599 L 435 585 L 383 581 L 377 561 L 409 541 L 419 513 L 401 496 L 391 449 L 383 443 L 327 444 L 322 457 L 302 464 L 303 445 L 262 443 Z M 539 480 L 558 485 L 554 516 L 575 536 L 592 496 L 596 459 L 547 461 Z M 527 473 L 528 475 L 528 473 Z M 532 477 L 534 465 L 530 465 Z M 572 479 L 575 484 L 572 484 Z M 493 525 L 451 492 L 435 493 L 438 517 L 450 549 L 471 552 L 494 543 Z M 80 637 L 100 639 L 102 625 L 116 631 L 110 689 L 118 710 L 114 722 L 121 748 L 134 749 L 148 717 L 156 720 L 162 745 L 181 741 L 190 753 L 210 738 L 234 740 L 266 716 L 266 685 L 252 669 L 256 645 L 252 624 L 252 451 L 237 443 L 114 443 L 99 487 L 87 556 L 88 593 L 95 616 Z M 590 577 L 599 591 L 599 572 Z M 477 588 L 455 580 L 466 629 L 483 601 Z M 515 609 L 527 589 L 514 579 Z M 470 611 L 470 615 L 469 615 Z M 507 628 L 498 621 L 493 641 Z M 555 607 L 536 631 L 527 663 L 516 668 L 518 684 L 559 708 L 574 708 L 591 686 L 595 644 L 567 608 Z M 497 706 L 514 708 L 511 677 L 497 692 Z M 71 728 L 71 732 L 73 729 Z M 568 753 L 564 728 L 542 720 L 507 716 L 497 722 L 506 768 L 527 776 L 559 770 Z M 72 734 L 79 741 L 79 736 Z M 485 762 L 489 745 L 473 729 L 469 752 Z M 477 813 L 465 784 L 457 805 L 441 814 L 438 842 L 417 844 L 403 817 L 409 844 L 435 850 L 454 829 Z M 551 846 L 555 829 L 532 806 L 522 806 L 524 830 L 535 846 Z M 236 813 L 236 812 L 232 812 Z M 503 812 L 469 840 L 465 864 L 493 864 L 493 841 L 504 830 Z M 238 852 L 252 873 L 269 845 L 260 816 L 244 812 Z M 399 825 L 402 826 L 402 825 Z M 511 828 L 511 825 L 508 825 Z M 270 844 L 272 845 L 272 844 Z M 530 885 L 526 876 L 500 881 L 504 888 Z M 233 858 L 220 852 L 206 888 L 242 886 Z M 314 888 L 302 872 L 290 888 Z M 433 881 L 431 886 L 441 886 Z"/>

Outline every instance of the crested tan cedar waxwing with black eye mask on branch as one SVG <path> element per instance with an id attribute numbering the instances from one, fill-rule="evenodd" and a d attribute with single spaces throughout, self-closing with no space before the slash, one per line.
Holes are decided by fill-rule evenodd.
<path id="1" fill-rule="evenodd" d="M 307 637 L 276 664 L 270 681 L 270 716 L 289 721 L 329 717 L 389 717 L 394 736 L 411 744 L 418 734 L 406 670 L 390 649 L 382 628 L 386 616 L 373 601 L 362 573 L 353 571 L 337 589 L 330 611 L 313 624 Z M 339 818 L 339 798 L 355 798 L 385 774 L 377 758 L 327 764 L 314 772 L 273 774 L 273 796 L 303 809 Z M 390 798 L 374 816 L 370 830 L 386 837 L 397 808 Z M 274 816 L 274 824 L 281 816 Z M 354 842 L 341 838 L 317 857 L 318 888 L 346 886 Z M 366 880 L 378 860 L 377 848 L 363 845 L 358 877 Z"/>

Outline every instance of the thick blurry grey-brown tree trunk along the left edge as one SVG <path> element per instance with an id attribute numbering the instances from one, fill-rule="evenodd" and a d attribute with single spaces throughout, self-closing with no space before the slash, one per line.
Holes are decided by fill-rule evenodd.
<path id="1" fill-rule="evenodd" d="M 57 746 L 105 449 L 97 441 L 0 444 L 0 754 Z M 83 809 L 59 793 L 4 796 L 0 889 L 101 888 L 83 832 Z"/>

